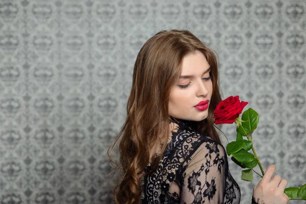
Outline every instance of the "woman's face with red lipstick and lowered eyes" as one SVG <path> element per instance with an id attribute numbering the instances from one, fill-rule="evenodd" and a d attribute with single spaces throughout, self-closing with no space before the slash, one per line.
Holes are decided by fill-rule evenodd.
<path id="1" fill-rule="evenodd" d="M 198 50 L 186 55 L 180 79 L 170 90 L 169 115 L 193 121 L 206 119 L 212 92 L 210 65 L 205 56 Z"/>

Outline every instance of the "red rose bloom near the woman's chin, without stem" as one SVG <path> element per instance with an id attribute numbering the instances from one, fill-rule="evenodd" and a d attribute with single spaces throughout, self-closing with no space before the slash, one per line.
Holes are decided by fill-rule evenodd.
<path id="1" fill-rule="evenodd" d="M 230 96 L 222 100 L 214 111 L 215 123 L 234 123 L 248 103 L 240 101 L 239 96 Z"/>

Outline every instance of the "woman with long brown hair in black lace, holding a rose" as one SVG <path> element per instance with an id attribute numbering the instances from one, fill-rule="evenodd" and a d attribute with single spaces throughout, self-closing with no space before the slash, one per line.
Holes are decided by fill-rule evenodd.
<path id="1" fill-rule="evenodd" d="M 122 136 L 116 203 L 239 203 L 214 126 L 220 101 L 217 58 L 193 34 L 161 31 L 145 42 L 115 140 Z M 287 181 L 272 179 L 274 170 L 254 187 L 252 202 L 288 202 Z"/>

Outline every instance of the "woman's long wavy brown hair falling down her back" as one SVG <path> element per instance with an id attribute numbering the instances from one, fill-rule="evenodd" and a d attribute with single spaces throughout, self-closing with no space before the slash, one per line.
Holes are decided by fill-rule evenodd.
<path id="1" fill-rule="evenodd" d="M 221 101 L 218 84 L 218 61 L 216 54 L 197 37 L 186 30 L 161 31 L 144 43 L 137 56 L 132 90 L 127 102 L 127 116 L 121 132 L 108 149 L 113 150 L 118 139 L 122 179 L 113 194 L 116 203 L 140 203 L 141 179 L 149 161 L 153 170 L 162 154 L 155 158 L 149 150 L 159 140 L 169 136 L 168 98 L 170 89 L 181 74 L 181 62 L 185 55 L 199 50 L 211 67 L 213 93 L 209 114 L 205 120 L 195 123 L 198 132 L 210 135 L 221 144 L 214 126 L 213 111 Z M 164 151 L 167 142 L 163 142 Z M 110 157 L 110 160 L 112 158 Z"/>

